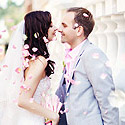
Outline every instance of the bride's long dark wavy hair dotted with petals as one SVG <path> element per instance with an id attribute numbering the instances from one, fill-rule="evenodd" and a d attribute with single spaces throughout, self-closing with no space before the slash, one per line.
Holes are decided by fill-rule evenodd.
<path id="1" fill-rule="evenodd" d="M 24 17 L 25 19 L 25 34 L 27 39 L 24 41 L 24 45 L 29 45 L 29 53 L 36 57 L 41 55 L 46 59 L 49 58 L 49 52 L 43 37 L 48 38 L 48 29 L 51 26 L 51 14 L 48 11 L 33 11 Z M 38 50 L 34 52 L 33 47 Z M 27 58 L 31 59 L 31 56 Z M 45 72 L 47 76 L 54 73 L 54 61 L 48 60 Z"/>

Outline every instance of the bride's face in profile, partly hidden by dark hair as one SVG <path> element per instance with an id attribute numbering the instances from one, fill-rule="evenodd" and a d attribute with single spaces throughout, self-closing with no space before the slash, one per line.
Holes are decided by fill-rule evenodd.
<path id="1" fill-rule="evenodd" d="M 51 23 L 49 29 L 48 29 L 48 40 L 52 41 L 53 38 L 56 36 L 56 30 L 57 28 Z"/>

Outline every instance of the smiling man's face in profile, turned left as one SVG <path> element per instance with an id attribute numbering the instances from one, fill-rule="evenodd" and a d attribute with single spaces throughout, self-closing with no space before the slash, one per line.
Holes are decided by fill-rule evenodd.
<path id="1" fill-rule="evenodd" d="M 74 12 L 67 12 L 64 16 L 59 32 L 61 32 L 61 42 L 68 43 L 72 46 L 77 39 L 76 30 L 74 27 Z"/>

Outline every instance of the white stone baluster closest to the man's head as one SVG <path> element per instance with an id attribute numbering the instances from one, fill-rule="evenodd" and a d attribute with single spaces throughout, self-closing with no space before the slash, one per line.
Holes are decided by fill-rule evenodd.
<path id="1" fill-rule="evenodd" d="M 104 34 L 104 31 L 106 29 L 106 25 L 101 22 L 101 18 L 96 19 L 95 23 L 96 23 L 96 26 L 97 26 L 97 31 L 96 31 L 95 34 L 97 35 L 97 38 L 98 38 L 98 47 L 100 49 L 102 49 L 103 52 L 106 53 L 107 40 L 106 40 L 106 36 Z"/>

